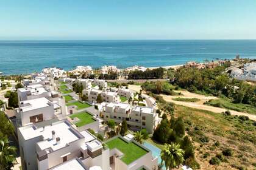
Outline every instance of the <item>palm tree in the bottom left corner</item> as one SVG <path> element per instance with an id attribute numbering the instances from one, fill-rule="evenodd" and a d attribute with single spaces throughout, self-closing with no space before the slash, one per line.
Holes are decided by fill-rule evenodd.
<path id="1" fill-rule="evenodd" d="M 7 138 L 0 140 L 0 169 L 10 169 L 15 161 L 14 146 L 9 146 Z"/>

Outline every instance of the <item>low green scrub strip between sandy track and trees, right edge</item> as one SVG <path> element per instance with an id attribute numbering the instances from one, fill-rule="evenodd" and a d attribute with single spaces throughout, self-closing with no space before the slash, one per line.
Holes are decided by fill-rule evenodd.
<path id="1" fill-rule="evenodd" d="M 249 104 L 232 103 L 228 99 L 224 98 L 218 100 L 210 100 L 208 102 L 205 102 L 205 104 L 215 107 L 222 107 L 230 110 L 236 110 L 238 112 L 246 112 L 248 114 L 256 114 L 256 107 Z"/>

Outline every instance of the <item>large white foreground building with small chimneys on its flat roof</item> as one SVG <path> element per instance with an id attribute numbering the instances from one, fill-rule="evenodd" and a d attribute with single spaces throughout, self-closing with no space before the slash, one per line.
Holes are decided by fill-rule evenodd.
<path id="1" fill-rule="evenodd" d="M 99 166 L 108 170 L 110 167 L 109 149 L 90 132 L 77 131 L 67 120 L 20 127 L 18 138 L 22 169 L 69 169 L 72 165 L 73 168 Z M 77 158 L 82 167 L 73 165 Z"/>

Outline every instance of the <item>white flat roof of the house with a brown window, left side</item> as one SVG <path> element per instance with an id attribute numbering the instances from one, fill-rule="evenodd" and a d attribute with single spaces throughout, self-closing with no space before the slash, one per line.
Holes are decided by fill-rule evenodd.
<path id="1" fill-rule="evenodd" d="M 23 104 L 21 104 L 20 109 L 22 109 L 23 112 L 27 112 L 27 111 L 39 109 L 42 107 L 48 107 L 50 106 L 49 103 L 51 103 L 51 101 L 49 101 L 45 97 L 41 97 L 41 98 L 35 98 L 32 100 L 21 101 L 21 103 Z"/>

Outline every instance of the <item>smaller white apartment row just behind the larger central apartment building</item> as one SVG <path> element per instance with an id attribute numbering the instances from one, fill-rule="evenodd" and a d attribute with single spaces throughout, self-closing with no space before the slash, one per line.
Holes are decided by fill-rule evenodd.
<path id="1" fill-rule="evenodd" d="M 97 89 L 84 89 L 83 95 L 88 97 L 90 103 L 96 102 L 98 95 L 101 95 L 104 102 L 118 102 L 119 97 L 116 92 L 102 91 Z"/>

